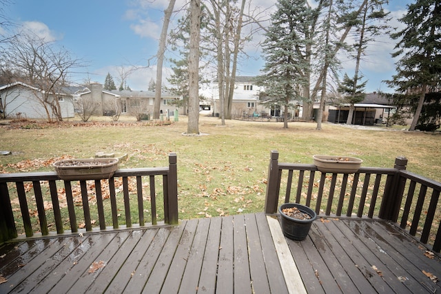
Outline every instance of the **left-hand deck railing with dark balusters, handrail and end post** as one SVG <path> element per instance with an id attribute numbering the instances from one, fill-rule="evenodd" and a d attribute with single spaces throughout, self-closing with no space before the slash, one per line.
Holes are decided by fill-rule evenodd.
<path id="1" fill-rule="evenodd" d="M 164 224 L 178 224 L 178 180 L 176 167 L 176 154 L 169 154 L 169 165 L 167 167 L 150 167 L 150 168 L 136 168 L 136 169 L 118 169 L 114 175 L 108 180 L 108 192 L 110 194 L 110 204 L 112 210 L 112 227 L 119 228 L 119 213 L 116 205 L 116 189 L 115 178 L 122 178 L 122 190 L 124 199 L 125 211 L 125 227 L 132 227 L 132 212 L 130 210 L 130 187 L 129 178 L 136 178 L 136 198 L 139 225 L 145 225 L 144 218 L 144 202 L 143 200 L 143 176 L 149 178 L 148 185 L 150 185 L 150 209 L 151 209 L 151 223 L 158 224 L 156 219 L 157 205 L 156 205 L 156 187 L 155 177 L 162 176 L 163 185 L 163 213 Z M 57 234 L 64 233 L 63 218 L 61 216 L 61 208 L 59 204 L 59 191 L 57 182 L 63 182 L 65 189 L 65 197 L 68 207 L 68 215 L 70 222 L 70 231 L 77 233 L 79 231 L 79 224 L 76 220 L 77 213 L 74 207 L 74 200 L 72 196 L 72 182 L 79 182 L 81 189 L 81 200 L 83 207 L 83 217 L 85 222 L 85 231 L 92 231 L 92 219 L 90 213 L 90 200 L 87 183 L 90 180 L 61 180 L 56 172 L 31 172 L 31 173 L 16 173 L 16 174 L 0 174 L 0 244 L 8 240 L 17 238 L 17 227 L 14 218 L 14 211 L 12 210 L 11 198 L 8 183 L 10 186 L 14 185 L 15 191 L 19 198 L 19 206 L 21 211 L 21 218 L 23 220 L 23 227 L 26 237 L 32 237 L 36 233 L 32 227 L 30 220 L 30 213 L 28 209 L 28 202 L 30 196 L 25 191 L 25 183 L 32 183 L 32 190 L 34 191 L 34 199 L 37 206 L 37 213 L 39 218 L 39 231 L 41 235 L 49 235 L 51 232 L 48 227 L 48 220 L 45 213 L 43 190 L 41 182 L 48 182 L 48 190 L 50 193 L 50 205 L 52 205 L 54 213 L 54 222 L 57 229 Z M 106 181 L 106 180 L 105 180 Z M 107 182 L 106 182 L 107 183 Z M 14 189 L 12 188 L 12 189 Z M 96 193 L 96 206 L 99 216 L 99 229 L 107 229 L 105 213 L 103 207 L 103 194 L 101 190 L 101 180 L 94 180 L 94 190 Z M 107 220 L 107 222 L 110 222 Z"/>

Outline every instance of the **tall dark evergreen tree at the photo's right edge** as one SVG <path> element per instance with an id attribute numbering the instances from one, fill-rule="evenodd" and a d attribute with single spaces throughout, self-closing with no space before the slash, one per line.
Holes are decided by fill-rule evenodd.
<path id="1" fill-rule="evenodd" d="M 407 7 L 400 19 L 405 28 L 391 34 L 398 40 L 393 57 L 401 56 L 396 63 L 397 74 L 386 81 L 401 94 L 418 94 L 410 131 L 414 131 L 422 113 L 425 96 L 439 93 L 441 89 L 441 1 L 417 0 Z M 402 99 L 402 95 L 393 98 Z M 411 103 L 412 99 L 408 101 Z"/>

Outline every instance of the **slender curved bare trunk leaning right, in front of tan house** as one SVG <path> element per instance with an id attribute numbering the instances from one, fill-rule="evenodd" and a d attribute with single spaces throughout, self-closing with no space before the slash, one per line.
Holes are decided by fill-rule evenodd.
<path id="1" fill-rule="evenodd" d="M 158 63 L 156 65 L 156 90 L 154 93 L 154 105 L 153 105 L 153 118 L 159 118 L 159 112 L 161 109 L 161 88 L 163 83 L 163 62 L 164 62 L 164 52 L 165 45 L 167 42 L 167 30 L 170 23 L 170 17 L 172 17 L 172 12 L 174 8 L 174 3 L 176 0 L 170 0 L 167 9 L 164 11 L 164 23 L 163 30 L 161 31 L 161 39 L 159 40 L 158 47 Z"/>

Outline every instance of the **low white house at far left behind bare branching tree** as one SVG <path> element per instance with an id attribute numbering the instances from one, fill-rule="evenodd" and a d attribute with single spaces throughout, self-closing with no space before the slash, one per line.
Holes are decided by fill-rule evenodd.
<path id="1" fill-rule="evenodd" d="M 45 107 L 41 103 L 43 91 L 25 83 L 15 82 L 0 86 L 0 109 L 5 118 L 48 119 Z M 58 99 L 62 118 L 74 117 L 73 95 L 66 88 L 61 93 L 50 96 Z M 54 118 L 50 107 L 49 115 Z"/>

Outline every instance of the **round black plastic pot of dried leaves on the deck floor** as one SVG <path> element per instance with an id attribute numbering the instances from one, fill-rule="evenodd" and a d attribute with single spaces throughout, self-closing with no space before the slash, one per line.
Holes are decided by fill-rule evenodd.
<path id="1" fill-rule="evenodd" d="M 293 207 L 296 207 L 302 214 L 309 216 L 309 218 L 303 218 L 302 216 L 300 218 L 296 216 L 291 217 L 283 212 L 284 209 L 290 209 Z M 307 237 L 312 222 L 317 218 L 316 211 L 297 203 L 282 204 L 280 205 L 278 212 L 280 213 L 280 225 L 282 227 L 283 235 L 296 241 L 304 240 Z"/>

